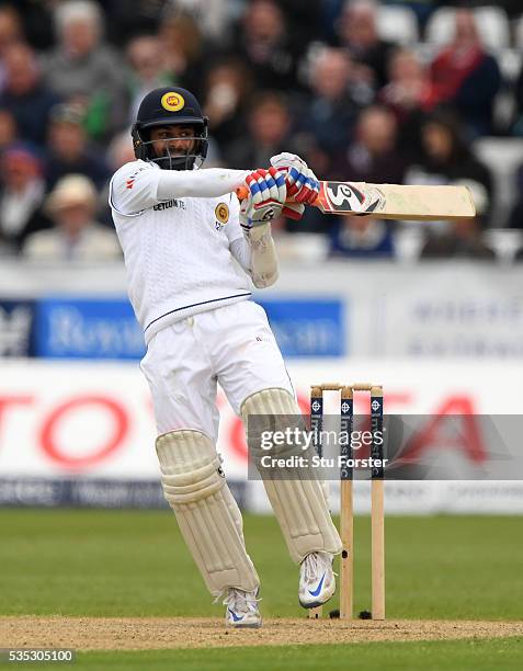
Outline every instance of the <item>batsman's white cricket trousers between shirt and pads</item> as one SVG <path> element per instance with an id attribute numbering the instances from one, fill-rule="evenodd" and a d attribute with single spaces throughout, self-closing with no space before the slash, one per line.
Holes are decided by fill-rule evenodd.
<path id="1" fill-rule="evenodd" d="M 241 300 L 178 321 L 148 343 L 140 363 L 149 383 L 158 433 L 202 431 L 216 444 L 219 383 L 234 411 L 271 387 L 294 396 L 265 310 Z"/>

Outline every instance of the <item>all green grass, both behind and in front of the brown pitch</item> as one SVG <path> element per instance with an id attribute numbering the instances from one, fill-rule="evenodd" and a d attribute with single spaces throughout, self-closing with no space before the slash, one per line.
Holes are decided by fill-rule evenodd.
<path id="1" fill-rule="evenodd" d="M 522 525 L 520 518 L 388 516 L 387 616 L 521 619 Z M 297 569 L 275 521 L 247 515 L 246 536 L 262 578 L 264 616 L 303 616 Z M 369 607 L 368 519 L 356 519 L 355 537 L 355 607 L 363 610 Z M 169 511 L 0 510 L 0 539 L 2 615 L 221 617 Z M 93 651 L 80 652 L 73 664 L 101 671 L 322 667 L 515 671 L 523 668 L 523 640 Z"/>

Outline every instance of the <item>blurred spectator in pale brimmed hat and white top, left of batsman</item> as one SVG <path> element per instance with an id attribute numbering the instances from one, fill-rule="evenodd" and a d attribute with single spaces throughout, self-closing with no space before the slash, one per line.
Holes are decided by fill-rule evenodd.
<path id="1" fill-rule="evenodd" d="M 96 192 L 88 178 L 82 174 L 62 178 L 45 206 L 54 228 L 27 238 L 23 248 L 25 258 L 47 262 L 99 262 L 121 258 L 114 232 L 94 220 Z"/>

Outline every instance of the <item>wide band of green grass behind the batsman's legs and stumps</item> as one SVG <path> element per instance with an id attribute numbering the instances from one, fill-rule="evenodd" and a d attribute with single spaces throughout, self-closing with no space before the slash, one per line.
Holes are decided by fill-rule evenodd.
<path id="1" fill-rule="evenodd" d="M 521 619 L 521 518 L 386 520 L 387 616 Z M 302 616 L 273 518 L 246 516 L 264 616 Z M 355 607 L 369 607 L 369 523 L 355 523 Z M 1 510 L 0 614 L 221 616 L 169 511 Z M 334 603 L 332 607 L 334 607 Z"/>

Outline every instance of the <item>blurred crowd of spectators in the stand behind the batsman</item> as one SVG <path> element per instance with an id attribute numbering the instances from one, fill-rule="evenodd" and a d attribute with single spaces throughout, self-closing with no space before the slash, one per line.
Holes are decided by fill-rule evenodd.
<path id="1" fill-rule="evenodd" d="M 416 255 L 496 260 L 487 234 L 523 230 L 523 168 L 511 175 L 516 197 L 500 220 L 492 166 L 475 147 L 523 135 L 523 69 L 507 80 L 477 4 L 0 2 L 0 257 L 120 258 L 109 180 L 134 159 L 129 129 L 144 94 L 174 84 L 193 91 L 209 117 L 207 167 L 264 167 L 286 150 L 320 179 L 466 184 L 478 217 L 418 227 Z M 411 16 L 416 42 L 384 36 L 390 30 L 379 16 L 389 5 Z M 446 43 L 429 48 L 431 16 L 444 5 L 457 10 Z M 516 0 L 496 7 L 508 25 L 523 15 Z M 510 103 L 503 114 L 500 96 Z M 274 228 L 284 257 L 314 248 L 312 255 L 394 259 L 412 226 L 308 208 L 302 221 Z"/>

